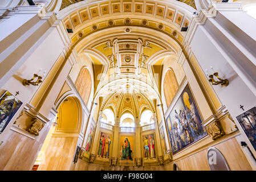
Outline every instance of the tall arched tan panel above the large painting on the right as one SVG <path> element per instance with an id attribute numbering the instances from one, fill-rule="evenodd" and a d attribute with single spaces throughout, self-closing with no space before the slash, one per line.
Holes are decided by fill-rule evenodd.
<path id="1" fill-rule="evenodd" d="M 167 107 L 169 107 L 170 102 L 174 97 L 174 94 L 177 92 L 177 89 L 178 89 L 178 82 L 173 72 L 173 69 L 170 68 L 168 69 L 164 77 L 164 97 L 165 97 Z"/>

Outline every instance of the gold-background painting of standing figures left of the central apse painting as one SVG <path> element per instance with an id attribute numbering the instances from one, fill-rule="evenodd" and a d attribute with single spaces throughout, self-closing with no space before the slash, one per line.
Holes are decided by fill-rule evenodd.
<path id="1" fill-rule="evenodd" d="M 99 149 L 97 155 L 101 158 L 109 158 L 109 147 L 111 144 L 111 135 L 107 133 L 100 133 Z"/>

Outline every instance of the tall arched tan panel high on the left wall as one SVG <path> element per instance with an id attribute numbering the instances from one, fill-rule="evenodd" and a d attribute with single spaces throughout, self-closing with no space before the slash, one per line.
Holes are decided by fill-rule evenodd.
<path id="1" fill-rule="evenodd" d="M 76 78 L 75 86 L 79 94 L 82 96 L 84 102 L 88 104 L 88 100 L 92 89 L 92 80 L 90 72 L 86 67 L 82 68 L 78 78 Z"/>

